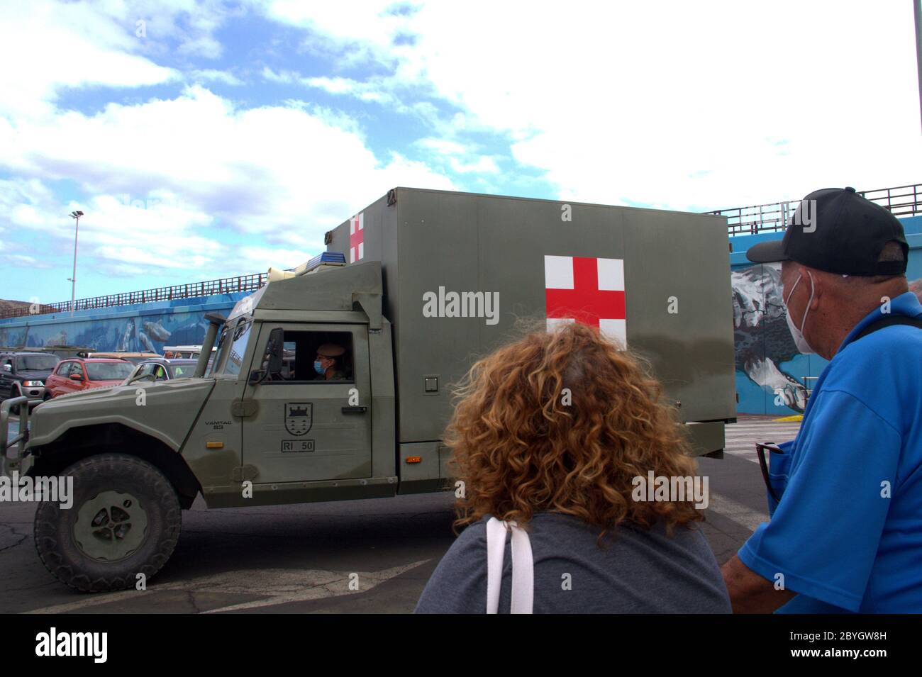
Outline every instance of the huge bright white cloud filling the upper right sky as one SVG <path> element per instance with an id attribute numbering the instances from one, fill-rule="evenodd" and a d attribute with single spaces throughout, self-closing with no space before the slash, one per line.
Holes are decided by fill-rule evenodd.
<path id="1" fill-rule="evenodd" d="M 524 12 L 472 0 L 399 18 L 379 4 L 355 20 L 345 6 L 295 5 L 269 16 L 319 33 L 320 47 L 397 64 L 401 86 L 458 106 L 465 128 L 506 134 L 566 199 L 701 209 L 916 181 L 904 3 L 576 0 Z M 395 46 L 401 32 L 414 39 Z"/>

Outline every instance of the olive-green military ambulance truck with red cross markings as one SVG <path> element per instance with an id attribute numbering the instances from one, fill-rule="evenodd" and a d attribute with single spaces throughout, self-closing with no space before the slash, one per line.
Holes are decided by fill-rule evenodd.
<path id="1" fill-rule="evenodd" d="M 74 478 L 71 508 L 36 512 L 55 577 L 150 578 L 198 494 L 227 508 L 453 486 L 450 387 L 527 320 L 584 321 L 647 356 L 696 453 L 721 453 L 736 415 L 724 218 L 397 188 L 325 240 L 208 316 L 194 378 L 23 407 L 12 439 L 18 401 L 2 405 L 6 472 Z"/>

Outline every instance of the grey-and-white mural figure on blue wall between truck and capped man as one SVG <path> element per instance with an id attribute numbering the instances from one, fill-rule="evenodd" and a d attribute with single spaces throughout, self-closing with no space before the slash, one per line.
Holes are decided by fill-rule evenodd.
<path id="1" fill-rule="evenodd" d="M 737 372 L 774 398 L 775 407 L 802 414 L 807 406 L 807 389 L 792 371 L 810 374 L 810 368 L 808 357 L 798 352 L 787 328 L 781 264 L 756 263 L 736 269 L 730 276 Z M 911 280 L 909 290 L 922 302 L 922 278 Z M 820 359 L 818 363 L 824 367 L 826 361 Z M 765 407 L 766 413 L 770 410 Z"/>

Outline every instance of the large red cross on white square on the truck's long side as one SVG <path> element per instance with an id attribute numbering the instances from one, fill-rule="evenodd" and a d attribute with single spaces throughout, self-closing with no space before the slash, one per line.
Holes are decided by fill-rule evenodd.
<path id="1" fill-rule="evenodd" d="M 548 329 L 582 322 L 627 345 L 623 259 L 545 256 Z"/>

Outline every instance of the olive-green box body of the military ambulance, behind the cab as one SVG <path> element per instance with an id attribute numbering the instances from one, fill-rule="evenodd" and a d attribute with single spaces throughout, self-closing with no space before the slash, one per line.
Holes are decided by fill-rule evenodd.
<path id="1" fill-rule="evenodd" d="M 396 188 L 328 232 L 326 244 L 347 263 L 381 262 L 399 443 L 442 437 L 450 385 L 514 338 L 517 318 L 543 322 L 553 306 L 551 315 L 591 322 L 617 314 L 598 310 L 596 299 L 608 304 L 610 294 L 599 292 L 621 286 L 621 318 L 601 325 L 626 330 L 628 346 L 650 359 L 668 399 L 680 403 L 683 422 L 720 421 L 707 450 L 723 447 L 723 422 L 736 416 L 726 218 Z M 448 317 L 451 292 L 482 293 L 462 305 L 493 316 Z M 424 316 L 427 300 L 443 316 Z"/>

